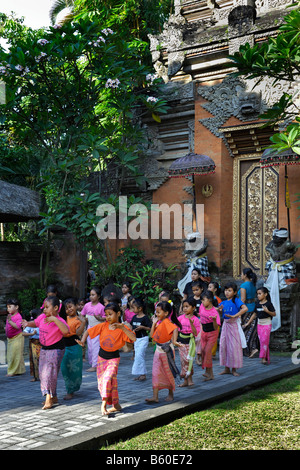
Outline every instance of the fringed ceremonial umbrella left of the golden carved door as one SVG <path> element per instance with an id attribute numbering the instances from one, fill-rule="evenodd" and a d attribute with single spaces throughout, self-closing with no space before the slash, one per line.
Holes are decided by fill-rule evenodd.
<path id="1" fill-rule="evenodd" d="M 195 180 L 198 175 L 210 175 L 215 172 L 215 162 L 207 155 L 190 152 L 184 157 L 177 158 L 168 172 L 170 178 L 183 178 L 192 176 L 193 184 L 193 213 L 196 221 L 196 196 L 195 196 Z M 196 221 L 197 223 L 197 221 Z"/>

